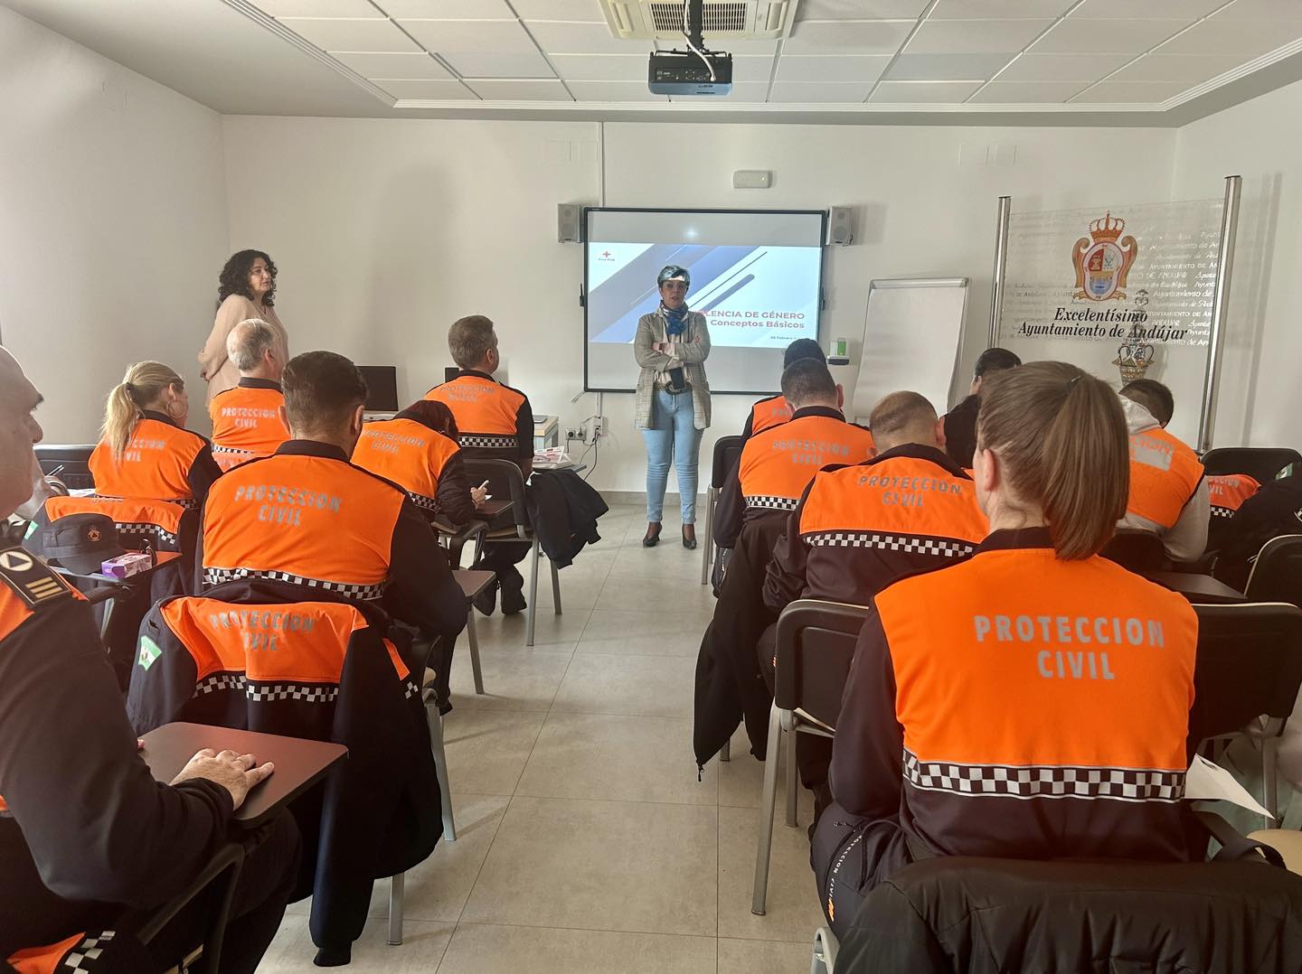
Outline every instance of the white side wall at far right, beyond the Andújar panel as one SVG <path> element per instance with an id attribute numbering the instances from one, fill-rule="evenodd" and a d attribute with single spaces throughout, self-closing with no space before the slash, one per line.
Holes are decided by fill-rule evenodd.
<path id="1" fill-rule="evenodd" d="M 1173 196 L 1242 176 L 1216 446 L 1302 449 L 1302 82 L 1178 130 Z"/>

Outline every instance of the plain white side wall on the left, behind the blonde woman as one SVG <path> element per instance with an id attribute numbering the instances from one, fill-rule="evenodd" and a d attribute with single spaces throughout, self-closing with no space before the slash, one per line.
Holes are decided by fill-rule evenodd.
<path id="1" fill-rule="evenodd" d="M 139 359 L 199 386 L 202 414 L 220 116 L 0 7 L 0 337 L 46 394 L 47 442 L 92 441 Z"/>

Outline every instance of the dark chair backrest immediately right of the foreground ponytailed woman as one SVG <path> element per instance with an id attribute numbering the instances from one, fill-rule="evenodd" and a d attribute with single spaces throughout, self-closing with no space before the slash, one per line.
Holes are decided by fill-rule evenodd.
<path id="1" fill-rule="evenodd" d="M 1195 605 L 1198 662 L 1189 746 L 1258 717 L 1285 720 L 1302 685 L 1302 609 L 1280 602 Z M 1282 728 L 1282 723 L 1280 724 Z"/>

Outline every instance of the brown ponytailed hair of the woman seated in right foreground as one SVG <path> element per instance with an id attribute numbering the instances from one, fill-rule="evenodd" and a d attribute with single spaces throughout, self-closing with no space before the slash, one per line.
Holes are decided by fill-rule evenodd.
<path id="1" fill-rule="evenodd" d="M 1065 362 L 982 381 L 976 449 L 993 450 L 1017 498 L 1044 512 L 1059 558 L 1108 542 L 1130 494 L 1130 438 L 1112 388 Z"/>

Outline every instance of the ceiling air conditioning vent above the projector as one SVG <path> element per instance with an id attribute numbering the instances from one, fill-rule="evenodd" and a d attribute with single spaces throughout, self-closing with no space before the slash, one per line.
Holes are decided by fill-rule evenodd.
<path id="1" fill-rule="evenodd" d="M 706 40 L 777 40 L 786 36 L 799 0 L 706 0 Z M 602 0 L 611 33 L 621 40 L 682 38 L 681 0 Z"/>

